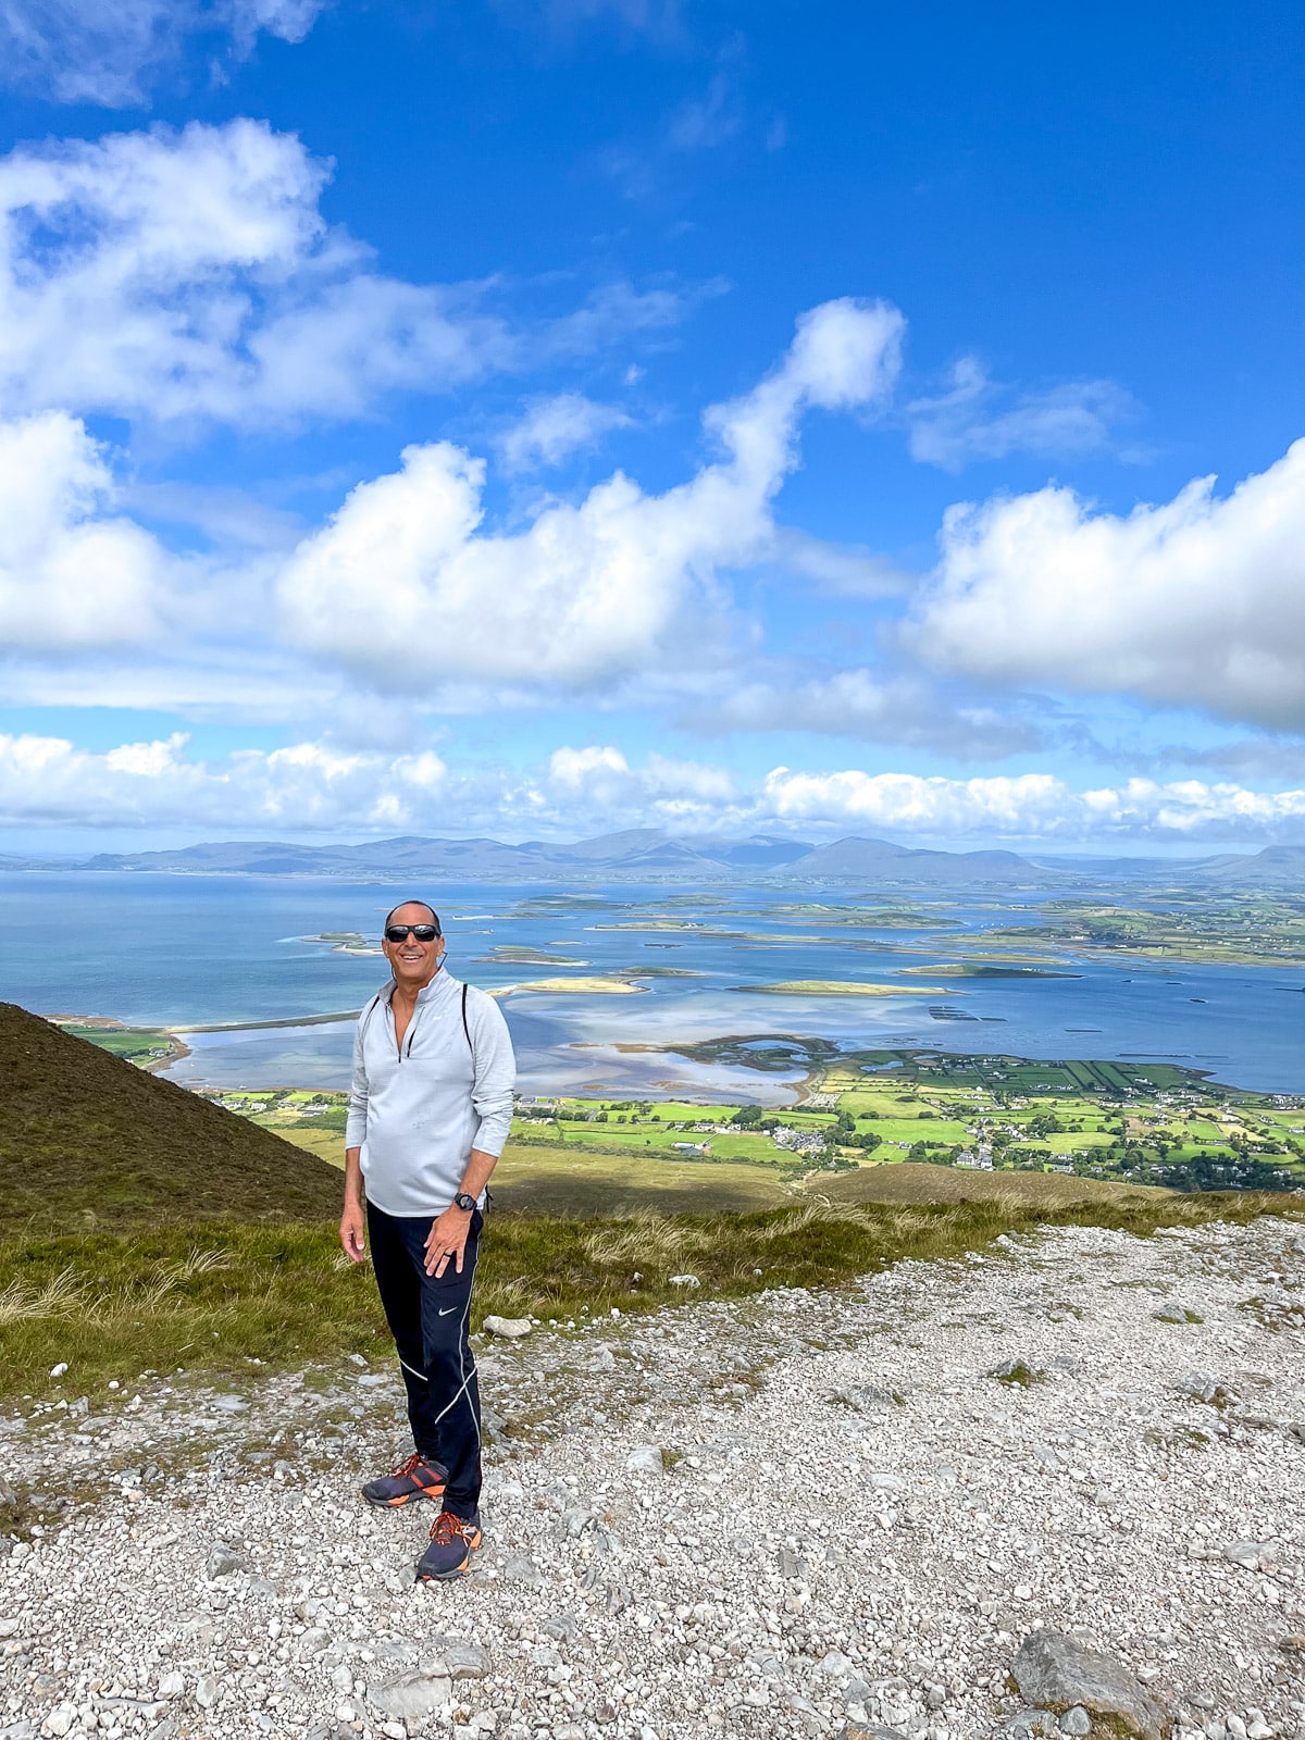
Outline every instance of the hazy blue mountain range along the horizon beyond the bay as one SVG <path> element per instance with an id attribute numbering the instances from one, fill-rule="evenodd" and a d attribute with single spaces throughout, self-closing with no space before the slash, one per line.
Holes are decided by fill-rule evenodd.
<path id="1" fill-rule="evenodd" d="M 1098 877 L 1145 875 L 1168 884 L 1305 889 L 1305 846 L 1201 860 L 1030 860 L 1018 853 L 936 853 L 849 837 L 832 846 L 755 833 L 743 840 L 628 828 L 590 840 L 440 840 L 402 835 L 362 846 L 230 840 L 157 853 L 97 853 L 80 860 L 3 858 L 3 870 L 167 870 L 190 875 L 423 877 L 426 880 L 659 880 L 889 882 L 914 887 L 1054 887 Z"/>

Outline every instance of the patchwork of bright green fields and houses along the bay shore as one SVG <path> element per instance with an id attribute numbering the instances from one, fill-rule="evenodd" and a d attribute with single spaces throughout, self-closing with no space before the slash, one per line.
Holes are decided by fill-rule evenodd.
<path id="1" fill-rule="evenodd" d="M 585 1157 L 593 1171 L 583 1176 L 604 1188 L 677 1202 L 693 1188 L 755 1202 L 759 1188 L 901 1162 L 1178 1190 L 1305 1188 L 1305 1101 L 1242 1093 L 1169 1063 L 873 1051 L 813 1061 L 807 1093 L 809 1103 L 773 1108 L 572 1096 L 522 1103 L 499 1181 L 525 1168 L 538 1199 L 546 1168 L 571 1155 L 576 1164 Z M 343 1094 L 219 1098 L 341 1164 Z M 757 1171 L 771 1173 L 771 1185 L 740 1183 Z"/>

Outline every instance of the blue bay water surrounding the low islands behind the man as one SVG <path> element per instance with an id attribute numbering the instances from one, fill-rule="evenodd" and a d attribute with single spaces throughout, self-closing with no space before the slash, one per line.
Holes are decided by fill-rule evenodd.
<path id="1" fill-rule="evenodd" d="M 515 994 L 503 1002 L 525 1091 L 783 1101 L 800 1072 L 766 1075 L 694 1065 L 658 1047 L 726 1035 L 786 1034 L 844 1046 L 1007 1051 L 1032 1058 L 1162 1058 L 1244 1088 L 1305 1089 L 1305 969 L 1183 966 L 1060 955 L 1074 978 L 896 978 L 907 966 L 954 960 L 955 926 L 840 934 L 769 945 L 696 931 L 602 929 L 649 914 L 752 938 L 790 936 L 792 915 L 771 908 L 837 900 L 830 891 L 607 884 L 442 884 L 430 891 L 444 917 L 449 966 L 496 988 L 522 980 L 675 967 L 694 976 L 649 978 L 626 997 Z M 1098 891 L 1100 893 L 1100 891 Z M 17 873 L 0 877 L 0 999 L 42 1014 L 110 1014 L 134 1025 L 285 1023 L 186 1035 L 191 1056 L 176 1081 L 211 1086 L 345 1086 L 346 1021 L 294 1025 L 357 1011 L 386 980 L 385 960 L 334 954 L 308 941 L 322 931 L 376 936 L 393 901 L 390 884 L 327 879 L 150 873 Z M 1065 889 L 1056 889 L 1063 898 Z M 858 893 L 853 900 L 865 901 Z M 543 905 L 541 905 L 543 901 Z M 602 905 L 602 903 L 609 905 Z M 917 905 L 927 907 L 926 901 Z M 943 900 L 940 919 L 973 940 L 987 929 L 1037 924 L 1028 893 Z M 566 966 L 512 964 L 496 947 L 566 955 Z M 1037 952 L 1044 948 L 1037 945 Z M 585 962 L 581 967 L 579 962 Z M 757 995 L 736 987 L 788 980 L 901 983 L 886 999 Z M 907 995 L 915 985 L 934 995 Z"/>

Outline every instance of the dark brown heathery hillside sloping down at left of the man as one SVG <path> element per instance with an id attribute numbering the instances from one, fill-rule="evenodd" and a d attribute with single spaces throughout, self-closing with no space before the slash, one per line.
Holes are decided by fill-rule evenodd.
<path id="1" fill-rule="evenodd" d="M 0 1002 L 0 1213 L 66 1232 L 336 1218 L 339 1173 Z"/>

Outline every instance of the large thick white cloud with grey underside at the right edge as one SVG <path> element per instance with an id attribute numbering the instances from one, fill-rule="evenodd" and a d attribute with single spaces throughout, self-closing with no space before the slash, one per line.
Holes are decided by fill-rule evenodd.
<path id="1" fill-rule="evenodd" d="M 950 508 L 912 646 L 954 672 L 1305 727 L 1305 442 L 1225 499 Z"/>

